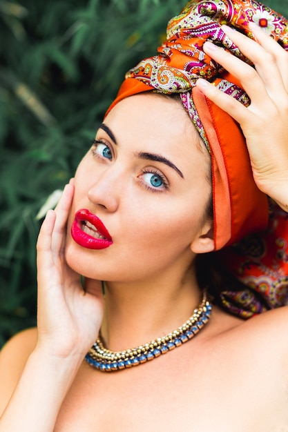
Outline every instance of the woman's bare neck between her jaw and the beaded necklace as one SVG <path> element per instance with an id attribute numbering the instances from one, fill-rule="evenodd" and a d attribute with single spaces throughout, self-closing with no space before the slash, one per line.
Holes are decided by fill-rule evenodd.
<path id="1" fill-rule="evenodd" d="M 106 282 L 102 338 L 122 351 L 162 337 L 181 326 L 201 301 L 192 269 L 138 282 Z"/>

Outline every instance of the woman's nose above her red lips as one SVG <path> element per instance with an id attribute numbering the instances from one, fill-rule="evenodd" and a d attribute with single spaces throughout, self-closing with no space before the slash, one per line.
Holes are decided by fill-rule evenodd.
<path id="1" fill-rule="evenodd" d="M 88 189 L 88 199 L 94 206 L 115 212 L 121 196 L 122 173 L 116 166 L 110 166 L 102 172 Z"/>

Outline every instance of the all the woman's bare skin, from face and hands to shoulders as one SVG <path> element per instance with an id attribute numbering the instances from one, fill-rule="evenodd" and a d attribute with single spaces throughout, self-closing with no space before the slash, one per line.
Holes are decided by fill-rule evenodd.
<path id="1" fill-rule="evenodd" d="M 238 32 L 229 37 L 256 64 L 256 72 L 224 50 L 205 44 L 209 55 L 242 81 L 251 97 L 249 108 L 202 80 L 198 86 L 239 121 L 258 187 L 287 208 L 287 53 L 260 30 L 255 34 L 258 43 Z M 17 335 L 0 355 L 0 409 L 8 404 L 0 431 L 18 431 L 19 418 L 21 431 L 29 432 L 288 431 L 285 307 L 247 322 L 214 307 L 209 324 L 193 341 L 131 370 L 106 375 L 82 362 L 100 325 L 113 350 L 134 346 L 181 325 L 199 302 L 193 266 L 189 270 L 188 264 L 195 253 L 213 247 L 211 222 L 203 218 L 209 199 L 209 162 L 183 117 L 185 113 L 174 101 L 155 95 L 128 98 L 118 108 L 105 119 L 119 141 L 114 159 L 107 162 L 88 153 L 75 181 L 66 186 L 56 210 L 48 212 L 41 228 L 37 245 L 38 331 Z M 140 110 L 144 115 L 135 117 Z M 162 118 L 164 111 L 166 119 Z M 176 113 L 177 125 L 171 124 L 171 111 Z M 153 162 L 152 167 L 164 171 L 171 182 L 167 193 L 146 190 L 143 161 L 131 157 L 135 147 L 155 151 L 148 139 L 151 133 L 157 135 L 153 125 L 156 115 L 156 124 L 166 121 L 156 136 L 157 152 L 167 152 L 164 156 L 179 166 L 185 177 L 183 181 L 174 170 L 170 173 L 172 168 Z M 178 136 L 173 135 L 175 130 Z M 148 139 L 142 141 L 146 133 Z M 180 140 L 181 152 L 174 145 Z M 271 142 L 275 143 L 273 151 Z M 193 163 L 196 171 L 189 170 Z M 151 168 L 151 162 L 147 165 L 145 161 L 144 166 Z M 192 188 L 197 199 L 188 199 L 187 188 Z M 198 188 L 207 193 L 199 195 Z M 171 202 L 178 198 L 173 206 Z M 83 206 L 101 214 L 113 237 L 113 247 L 103 254 L 79 250 L 70 239 L 73 215 Z M 171 226 L 179 208 L 183 210 L 182 222 Z M 153 216 L 157 224 L 142 226 L 137 215 Z M 145 233 L 156 236 L 155 250 L 150 250 L 151 241 L 144 238 Z M 168 242 L 173 250 L 167 247 Z M 140 244 L 143 254 L 138 251 Z M 129 272 L 123 268 L 127 261 Z M 169 271 L 171 266 L 173 271 Z M 80 271 L 86 276 L 85 293 L 79 284 Z M 108 279 L 105 307 L 99 278 Z"/>

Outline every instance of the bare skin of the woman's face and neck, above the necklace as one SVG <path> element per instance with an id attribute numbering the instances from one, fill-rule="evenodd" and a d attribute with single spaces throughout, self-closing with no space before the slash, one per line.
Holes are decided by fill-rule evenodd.
<path id="1" fill-rule="evenodd" d="M 146 114 L 139 118 L 141 109 Z M 105 124 L 117 146 L 107 132 L 98 130 L 96 139 L 105 144 L 95 146 L 94 154 L 89 151 L 79 165 L 68 231 L 75 211 L 88 208 L 108 228 L 113 246 L 91 251 L 68 235 L 66 259 L 86 277 L 108 281 L 102 331 L 106 328 L 109 346 L 120 350 L 141 344 L 147 331 L 148 338 L 156 337 L 155 325 L 165 322 L 167 314 L 176 326 L 179 316 L 184 322 L 191 304 L 198 303 L 191 262 L 196 252 L 213 249 L 212 223 L 203 218 L 211 190 L 209 155 L 200 150 L 200 138 L 182 106 L 160 95 L 124 99 Z M 175 146 L 179 142 L 181 150 Z M 112 159 L 103 157 L 105 146 L 111 148 Z M 136 157 L 140 152 L 164 155 L 184 178 L 162 162 Z M 155 170 L 165 176 L 169 189 L 151 186 Z M 122 263 L 128 263 L 128 271 Z M 147 315 L 151 298 L 164 307 Z M 125 341 L 122 335 L 130 337 Z"/>

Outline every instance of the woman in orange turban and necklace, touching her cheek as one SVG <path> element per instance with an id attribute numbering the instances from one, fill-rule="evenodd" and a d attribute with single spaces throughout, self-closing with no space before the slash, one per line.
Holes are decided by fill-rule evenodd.
<path id="1" fill-rule="evenodd" d="M 214 257 L 265 228 L 266 195 L 288 209 L 287 52 L 259 28 L 272 25 L 268 15 L 258 26 L 246 23 L 255 41 L 221 26 L 218 14 L 232 5 L 233 26 L 247 4 L 189 3 L 171 21 L 162 77 L 176 77 L 182 95 L 151 91 L 169 92 L 165 80 L 162 89 L 153 86 L 155 69 L 147 68 L 159 58 L 131 70 L 75 179 L 48 212 L 37 244 L 38 329 L 15 336 L 0 357 L 0 431 L 288 430 L 287 309 L 251 320 L 215 304 L 211 310 L 195 266 L 196 257 Z M 216 79 L 236 77 L 233 86 L 245 92 L 227 94 L 223 81 L 213 86 L 178 68 L 182 23 L 199 10 L 202 25 L 219 18 L 215 33 L 256 66 L 202 41 Z M 187 75 L 196 90 L 186 89 Z M 227 137 L 240 156 L 229 155 Z M 145 341 L 153 344 L 143 348 Z M 137 349 L 131 355 L 127 347 Z"/>

